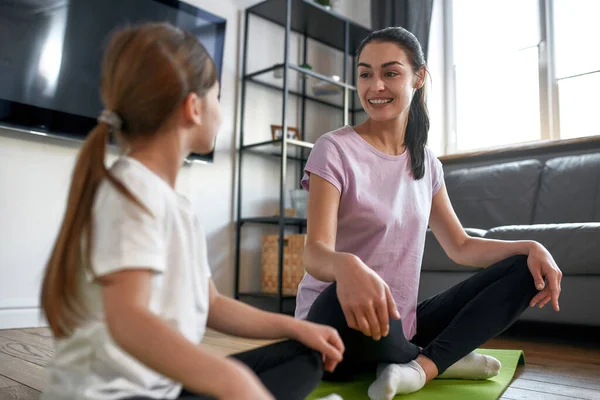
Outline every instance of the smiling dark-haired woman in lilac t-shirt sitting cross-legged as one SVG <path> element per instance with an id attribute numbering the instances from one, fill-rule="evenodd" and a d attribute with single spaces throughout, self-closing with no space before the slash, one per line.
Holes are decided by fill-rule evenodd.
<path id="1" fill-rule="evenodd" d="M 344 341 L 344 360 L 327 379 L 377 370 L 374 400 L 417 391 L 438 374 L 492 377 L 499 362 L 472 351 L 528 305 L 552 301 L 558 311 L 562 274 L 539 243 L 465 233 L 426 146 L 426 66 L 414 35 L 373 32 L 357 57 L 369 118 L 323 135 L 311 151 L 302 181 L 308 274 L 296 316 L 337 328 Z M 428 225 L 456 263 L 487 268 L 417 304 Z"/>

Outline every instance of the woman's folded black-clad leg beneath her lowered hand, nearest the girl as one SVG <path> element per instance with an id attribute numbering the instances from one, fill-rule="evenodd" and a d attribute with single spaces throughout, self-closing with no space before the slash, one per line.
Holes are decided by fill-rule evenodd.
<path id="1" fill-rule="evenodd" d="M 363 372 L 375 372 L 379 363 L 406 364 L 417 358 L 419 348 L 406 340 L 400 320 L 390 319 L 390 331 L 376 341 L 362 332 L 348 327 L 344 312 L 337 298 L 334 282 L 317 297 L 307 320 L 337 329 L 344 346 L 343 361 L 333 373 L 325 372 L 324 379 L 350 380 Z"/>

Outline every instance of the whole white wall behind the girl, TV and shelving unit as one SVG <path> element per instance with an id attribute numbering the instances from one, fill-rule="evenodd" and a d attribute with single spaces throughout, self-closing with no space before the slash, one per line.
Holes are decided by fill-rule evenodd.
<path id="1" fill-rule="evenodd" d="M 241 9 L 254 0 L 188 0 L 191 4 L 227 19 L 221 106 L 221 127 L 214 163 L 185 166 L 177 189 L 189 197 L 204 224 L 213 278 L 219 290 L 233 292 L 235 245 L 235 170 L 237 168 L 237 116 L 241 74 Z M 348 0 L 340 11 L 367 25 L 369 2 Z M 367 5 L 365 5 L 367 4 Z M 366 10 L 366 11 L 365 11 Z M 354 16 L 353 16 L 354 15 Z M 367 16 L 367 17 L 365 17 Z M 363 20 L 363 22 L 361 22 Z M 249 70 L 283 58 L 282 28 L 263 20 L 251 22 Z M 268 35 L 276 44 L 267 45 Z M 298 38 L 292 39 L 293 56 L 298 55 Z M 313 48 L 314 47 L 314 48 Z M 341 75 L 341 55 L 329 60 L 326 49 L 309 48 L 311 62 L 319 72 Z M 248 86 L 246 143 L 268 140 L 270 124 L 281 121 L 281 96 L 277 92 Z M 296 124 L 294 100 L 288 109 L 290 125 Z M 339 115 L 338 115 L 339 114 Z M 341 125 L 341 112 L 332 113 L 314 104 L 309 106 L 308 136 Z M 39 290 L 44 264 L 50 253 L 62 215 L 70 175 L 80 143 L 24 135 L 0 128 L 0 329 L 43 325 L 39 313 Z M 114 159 L 114 157 L 109 157 Z M 279 195 L 277 158 L 245 157 L 243 166 L 244 216 L 272 215 Z M 290 168 L 290 187 L 297 185 L 299 171 Z M 243 235 L 242 289 L 257 290 L 260 282 L 260 239 L 273 228 L 249 227 Z"/>

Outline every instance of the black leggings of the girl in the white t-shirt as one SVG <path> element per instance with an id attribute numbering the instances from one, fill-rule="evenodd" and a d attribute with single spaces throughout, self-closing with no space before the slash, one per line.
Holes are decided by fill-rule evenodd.
<path id="1" fill-rule="evenodd" d="M 252 369 L 277 400 L 305 399 L 319 384 L 323 376 L 320 353 L 303 344 L 287 340 L 234 354 Z M 213 397 L 183 390 L 182 400 L 210 400 Z M 147 397 L 130 397 L 127 400 L 151 400 Z"/>

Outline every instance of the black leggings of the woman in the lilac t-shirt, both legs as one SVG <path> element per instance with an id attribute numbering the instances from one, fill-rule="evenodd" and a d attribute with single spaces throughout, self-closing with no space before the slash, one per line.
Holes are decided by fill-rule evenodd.
<path id="1" fill-rule="evenodd" d="M 344 360 L 333 373 L 325 372 L 326 380 L 349 380 L 375 371 L 378 363 L 405 364 L 419 353 L 430 358 L 441 374 L 512 325 L 536 293 L 527 258 L 515 256 L 422 301 L 417 306 L 418 333 L 410 342 L 400 320 L 390 319 L 390 331 L 379 341 L 349 328 L 335 283 L 315 300 L 307 319 L 336 328 L 346 347 Z"/>

